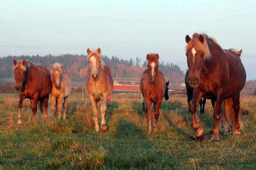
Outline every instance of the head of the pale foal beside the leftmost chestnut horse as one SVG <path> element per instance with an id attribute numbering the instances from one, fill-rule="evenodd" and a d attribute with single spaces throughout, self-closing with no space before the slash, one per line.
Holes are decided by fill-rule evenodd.
<path id="1" fill-rule="evenodd" d="M 63 64 L 60 63 L 54 63 L 51 65 L 51 70 L 52 70 L 52 81 L 55 83 L 55 88 L 60 89 L 61 88 L 61 72 L 63 69 Z"/>

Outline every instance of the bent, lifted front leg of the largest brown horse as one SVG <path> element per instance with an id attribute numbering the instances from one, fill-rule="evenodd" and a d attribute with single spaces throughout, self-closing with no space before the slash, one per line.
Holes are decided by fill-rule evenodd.
<path id="1" fill-rule="evenodd" d="M 193 98 L 190 103 L 190 112 L 192 115 L 193 120 L 193 129 L 195 130 L 196 138 L 198 141 L 203 141 L 205 138 L 204 131 L 202 129 L 199 129 L 199 125 L 196 120 L 196 106 L 199 100 L 202 98 L 202 92 L 198 88 L 194 88 L 193 90 Z"/>

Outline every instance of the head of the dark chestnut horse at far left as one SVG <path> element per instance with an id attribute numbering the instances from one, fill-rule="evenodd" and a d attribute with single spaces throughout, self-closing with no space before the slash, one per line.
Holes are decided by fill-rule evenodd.
<path id="1" fill-rule="evenodd" d="M 14 74 L 15 74 L 15 90 L 16 91 L 23 91 L 23 83 L 26 83 L 26 71 L 27 71 L 27 63 L 25 60 L 16 61 L 13 60 L 14 64 Z"/>

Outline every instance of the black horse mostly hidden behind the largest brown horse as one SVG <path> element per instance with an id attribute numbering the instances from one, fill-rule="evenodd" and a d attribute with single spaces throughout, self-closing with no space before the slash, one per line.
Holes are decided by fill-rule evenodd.
<path id="1" fill-rule="evenodd" d="M 193 98 L 193 88 L 190 87 L 189 83 L 188 83 L 188 75 L 189 75 L 189 70 L 187 70 L 186 72 L 186 76 L 185 76 L 185 85 L 186 85 L 186 90 L 187 90 L 187 96 L 188 96 L 188 112 L 190 112 L 189 109 L 189 105 L 190 105 L 190 101 Z M 205 112 L 205 103 L 206 103 L 206 98 L 203 98 L 204 100 L 200 99 L 199 101 L 199 105 L 200 105 L 200 113 L 204 113 Z"/>

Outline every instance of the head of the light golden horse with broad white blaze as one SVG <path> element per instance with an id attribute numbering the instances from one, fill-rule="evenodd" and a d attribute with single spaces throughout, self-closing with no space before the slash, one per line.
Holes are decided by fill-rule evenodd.
<path id="1" fill-rule="evenodd" d="M 100 53 L 101 53 L 100 48 L 98 48 L 95 51 L 91 51 L 89 48 L 87 49 L 88 62 L 89 62 L 90 69 L 91 69 L 92 79 L 94 81 L 99 80 L 99 72 L 100 72 L 100 68 L 102 66 L 101 59 L 100 59 Z"/>

